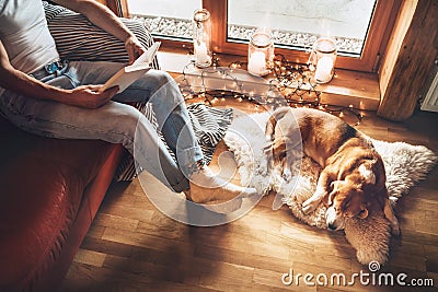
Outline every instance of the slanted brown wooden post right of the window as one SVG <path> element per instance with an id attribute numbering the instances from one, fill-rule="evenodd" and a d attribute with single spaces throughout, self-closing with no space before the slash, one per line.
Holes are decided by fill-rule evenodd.
<path id="1" fill-rule="evenodd" d="M 412 116 L 438 54 L 438 0 L 404 0 L 379 74 L 378 115 Z"/>

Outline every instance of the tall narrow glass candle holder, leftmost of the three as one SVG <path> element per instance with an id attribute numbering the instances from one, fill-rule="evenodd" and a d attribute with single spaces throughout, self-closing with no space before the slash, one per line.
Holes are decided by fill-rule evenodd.
<path id="1" fill-rule="evenodd" d="M 206 68 L 211 65 L 211 21 L 210 12 L 198 9 L 193 16 L 193 48 L 195 65 Z"/>

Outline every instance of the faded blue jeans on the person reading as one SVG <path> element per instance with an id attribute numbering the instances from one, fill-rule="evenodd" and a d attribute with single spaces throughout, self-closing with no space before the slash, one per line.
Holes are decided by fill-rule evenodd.
<path id="1" fill-rule="evenodd" d="M 41 81 L 62 89 L 103 84 L 124 65 L 72 61 L 56 75 Z M 176 155 L 172 159 L 153 125 L 125 103 L 151 103 L 159 130 Z M 189 187 L 189 176 L 203 160 L 184 98 L 166 72 L 150 70 L 113 101 L 84 109 L 51 101 L 30 98 L 11 91 L 0 96 L 0 112 L 18 127 L 46 137 L 100 139 L 122 143 L 136 163 L 175 191 Z"/>

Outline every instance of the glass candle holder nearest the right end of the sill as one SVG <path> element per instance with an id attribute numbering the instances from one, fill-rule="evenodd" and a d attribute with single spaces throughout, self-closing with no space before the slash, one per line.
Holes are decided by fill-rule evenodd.
<path id="1" fill-rule="evenodd" d="M 336 43 L 328 37 L 316 39 L 313 45 L 311 63 L 315 68 L 314 78 L 318 83 L 327 83 L 335 72 Z"/>

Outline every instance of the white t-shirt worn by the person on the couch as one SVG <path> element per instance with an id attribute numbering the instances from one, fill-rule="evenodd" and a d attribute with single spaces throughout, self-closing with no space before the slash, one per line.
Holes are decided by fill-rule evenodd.
<path id="1" fill-rule="evenodd" d="M 11 65 L 24 73 L 59 58 L 42 0 L 0 0 L 0 39 Z"/>

